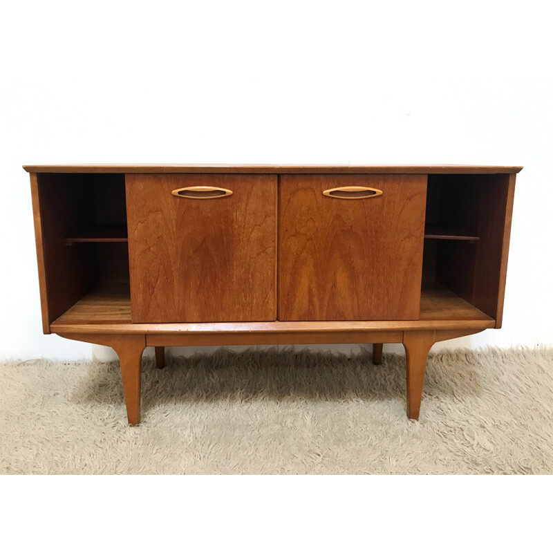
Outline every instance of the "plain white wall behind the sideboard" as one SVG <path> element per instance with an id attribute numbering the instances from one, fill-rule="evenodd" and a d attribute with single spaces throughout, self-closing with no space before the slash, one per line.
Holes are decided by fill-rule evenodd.
<path id="1" fill-rule="evenodd" d="M 380 4 L 5 5 L 0 359 L 92 353 L 41 333 L 24 163 L 524 165 L 503 329 L 444 345 L 553 345 L 546 4 Z"/>

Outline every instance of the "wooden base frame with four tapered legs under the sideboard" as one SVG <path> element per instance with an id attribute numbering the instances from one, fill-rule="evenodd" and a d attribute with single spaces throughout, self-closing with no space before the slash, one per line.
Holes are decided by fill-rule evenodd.
<path id="1" fill-rule="evenodd" d="M 217 335 L 174 333 L 169 334 L 88 334 L 58 332 L 63 338 L 85 341 L 90 344 L 111 346 L 117 353 L 126 403 L 126 414 L 131 427 L 140 422 L 140 370 L 142 352 L 147 346 L 156 348 L 156 366 L 165 366 L 165 346 L 219 346 L 244 344 L 373 344 L 373 363 L 382 362 L 383 344 L 403 344 L 406 353 L 407 416 L 418 420 L 424 373 L 431 347 L 437 341 L 476 334 L 484 328 L 453 328 L 448 330 L 397 330 L 374 332 L 301 332 L 288 333 L 225 333 Z"/>

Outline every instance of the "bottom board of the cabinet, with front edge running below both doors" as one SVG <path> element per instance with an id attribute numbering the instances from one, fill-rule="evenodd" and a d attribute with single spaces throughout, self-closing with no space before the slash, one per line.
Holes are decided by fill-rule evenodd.
<path id="1" fill-rule="evenodd" d="M 122 325 L 124 332 L 364 332 L 417 328 L 491 328 L 494 319 L 438 283 L 424 283 L 417 321 L 267 321 L 252 323 L 131 324 L 129 284 L 102 285 L 67 310 L 50 327 L 52 332 L 106 332 Z M 97 328 L 93 328 L 97 326 Z M 71 328 L 73 327 L 73 328 Z M 79 328 L 80 327 L 80 328 Z"/>

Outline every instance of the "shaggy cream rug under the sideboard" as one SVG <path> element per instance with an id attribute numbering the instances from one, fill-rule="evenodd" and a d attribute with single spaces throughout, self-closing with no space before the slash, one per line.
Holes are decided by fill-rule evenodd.
<path id="1" fill-rule="evenodd" d="M 219 351 L 142 368 L 0 365 L 3 474 L 551 474 L 553 350 L 431 355 L 420 422 L 404 358 Z"/>

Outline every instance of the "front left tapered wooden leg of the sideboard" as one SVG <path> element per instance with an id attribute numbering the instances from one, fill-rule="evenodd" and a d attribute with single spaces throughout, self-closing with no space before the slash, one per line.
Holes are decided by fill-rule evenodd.
<path id="1" fill-rule="evenodd" d="M 112 337 L 112 347 L 121 364 L 126 417 L 131 427 L 135 427 L 140 422 L 140 366 L 146 338 L 144 335 L 116 335 Z"/>

